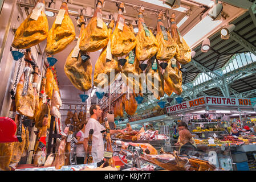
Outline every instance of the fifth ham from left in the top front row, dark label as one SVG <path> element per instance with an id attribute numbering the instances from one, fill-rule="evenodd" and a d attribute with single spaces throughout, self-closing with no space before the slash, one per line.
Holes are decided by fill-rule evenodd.
<path id="1" fill-rule="evenodd" d="M 143 19 L 144 8 L 140 8 L 139 12 L 139 32 L 136 36 L 136 57 L 139 61 L 150 59 L 157 53 L 159 44 L 151 30 L 146 26 Z"/>

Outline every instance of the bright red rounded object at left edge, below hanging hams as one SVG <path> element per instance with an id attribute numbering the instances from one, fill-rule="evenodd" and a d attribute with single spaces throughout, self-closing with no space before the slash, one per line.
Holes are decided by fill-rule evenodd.
<path id="1" fill-rule="evenodd" d="M 0 143 L 18 142 L 15 136 L 17 126 L 11 118 L 0 117 Z"/>

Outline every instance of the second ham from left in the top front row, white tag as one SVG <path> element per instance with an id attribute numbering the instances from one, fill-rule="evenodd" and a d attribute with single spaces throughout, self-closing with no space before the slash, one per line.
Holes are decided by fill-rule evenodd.
<path id="1" fill-rule="evenodd" d="M 75 27 L 68 15 L 67 1 L 62 0 L 62 6 L 48 34 L 47 55 L 54 55 L 65 49 L 75 39 L 75 36 Z"/>

